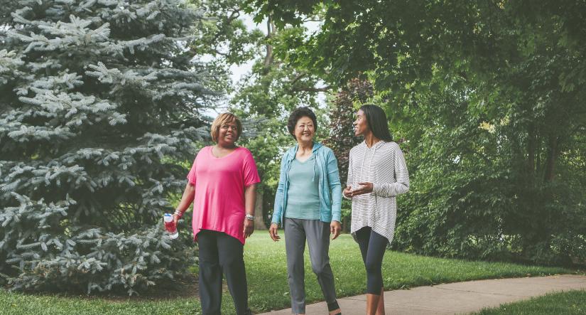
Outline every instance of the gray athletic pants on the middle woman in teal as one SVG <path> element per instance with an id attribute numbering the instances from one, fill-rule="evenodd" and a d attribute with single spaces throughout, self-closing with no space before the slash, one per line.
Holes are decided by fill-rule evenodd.
<path id="1" fill-rule="evenodd" d="M 303 252 L 308 242 L 311 269 L 318 276 L 327 303 L 336 301 L 334 274 L 330 267 L 330 223 L 320 220 L 285 218 L 285 248 L 291 308 L 294 314 L 305 314 L 305 269 Z"/>

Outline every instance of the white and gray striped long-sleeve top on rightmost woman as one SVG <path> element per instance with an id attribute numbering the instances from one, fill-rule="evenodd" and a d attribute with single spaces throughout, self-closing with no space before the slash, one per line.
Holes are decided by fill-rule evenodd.
<path id="1" fill-rule="evenodd" d="M 396 142 L 380 141 L 371 146 L 362 142 L 350 150 L 347 185 L 374 183 L 372 193 L 352 199 L 350 232 L 369 226 L 389 243 L 395 233 L 396 196 L 409 190 L 409 173 L 405 157 Z M 347 198 L 344 196 L 344 198 Z"/>

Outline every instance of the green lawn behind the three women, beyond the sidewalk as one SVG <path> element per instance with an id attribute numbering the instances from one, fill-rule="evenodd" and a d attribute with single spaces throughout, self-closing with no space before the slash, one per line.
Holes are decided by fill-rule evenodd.
<path id="1" fill-rule="evenodd" d="M 280 231 L 281 237 L 283 232 Z M 305 291 L 308 303 L 320 301 L 322 293 L 305 255 Z M 244 248 L 249 300 L 255 312 L 289 306 L 285 242 L 273 242 L 266 231 L 256 231 Z M 351 235 L 332 241 L 330 262 L 339 297 L 362 294 L 366 275 L 358 245 Z M 403 289 L 428 284 L 472 279 L 539 276 L 573 273 L 558 267 L 537 267 L 499 262 L 470 262 L 387 252 L 383 265 L 386 289 Z M 75 297 L 17 294 L 0 290 L 0 313 L 8 314 L 197 314 L 196 297 L 163 301 L 107 301 Z M 224 292 L 224 314 L 233 314 L 232 298 Z"/>

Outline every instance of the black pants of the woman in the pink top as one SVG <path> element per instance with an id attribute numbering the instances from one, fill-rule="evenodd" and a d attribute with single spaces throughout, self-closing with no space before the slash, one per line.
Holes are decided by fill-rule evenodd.
<path id="1" fill-rule="evenodd" d="M 232 236 L 212 230 L 201 230 L 197 233 L 197 243 L 200 247 L 202 313 L 220 314 L 223 273 L 234 300 L 236 314 L 249 314 L 244 245 Z"/>

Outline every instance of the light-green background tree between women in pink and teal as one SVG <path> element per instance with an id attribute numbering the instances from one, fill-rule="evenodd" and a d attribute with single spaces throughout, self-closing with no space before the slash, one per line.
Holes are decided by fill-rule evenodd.
<path id="1" fill-rule="evenodd" d="M 254 60 L 251 73 L 239 82 L 231 100 L 231 110 L 244 119 L 254 122 L 256 136 L 243 139 L 242 144 L 254 154 L 262 178 L 259 193 L 262 196 L 263 217 L 271 221 L 274 196 L 280 175 L 284 150 L 294 144 L 288 132 L 289 114 L 295 108 L 307 106 L 318 116 L 318 140 L 327 137 L 325 109 L 318 106 L 318 92 L 330 90 L 321 87 L 318 77 L 303 68 L 295 68 L 278 51 L 290 41 L 298 41 L 304 27 L 277 31 L 271 19 L 266 21 L 266 37 L 256 43 L 264 55 Z M 261 215 L 259 213 L 258 215 Z"/>

